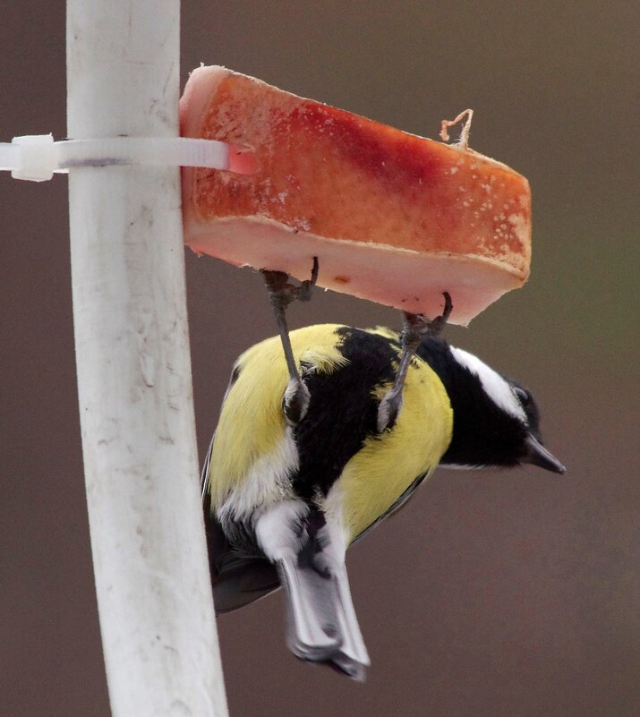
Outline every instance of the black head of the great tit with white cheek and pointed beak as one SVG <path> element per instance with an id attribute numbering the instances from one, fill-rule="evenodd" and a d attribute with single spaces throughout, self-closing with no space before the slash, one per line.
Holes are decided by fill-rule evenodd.
<path id="1" fill-rule="evenodd" d="M 447 388 L 454 415 L 451 444 L 440 465 L 532 464 L 565 472 L 542 445 L 538 406 L 526 388 L 462 349 L 441 344 L 440 354 L 439 367 L 431 365 Z"/>

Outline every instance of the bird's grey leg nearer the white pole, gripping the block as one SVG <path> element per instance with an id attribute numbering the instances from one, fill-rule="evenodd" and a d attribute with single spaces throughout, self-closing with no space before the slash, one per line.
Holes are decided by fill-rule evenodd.
<path id="1" fill-rule="evenodd" d="M 309 388 L 300 378 L 298 367 L 295 363 L 294 352 L 291 348 L 289 329 L 286 325 L 286 309 L 288 305 L 296 300 L 308 302 L 311 299 L 311 289 L 318 279 L 318 257 L 313 257 L 313 269 L 311 279 L 306 279 L 300 286 L 289 283 L 289 275 L 284 271 L 268 271 L 262 269 L 262 276 L 269 290 L 269 299 L 273 312 L 276 315 L 277 329 L 280 333 L 282 348 L 285 351 L 286 367 L 289 370 L 289 383 L 286 387 L 283 398 L 283 410 L 290 423 L 298 423 L 303 420 L 304 414 L 309 407 Z"/>

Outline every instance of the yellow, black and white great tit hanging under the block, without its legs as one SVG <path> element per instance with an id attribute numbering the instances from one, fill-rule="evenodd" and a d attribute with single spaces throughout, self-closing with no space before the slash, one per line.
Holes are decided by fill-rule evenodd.
<path id="1" fill-rule="evenodd" d="M 439 337 L 412 351 L 402 410 L 381 425 L 380 404 L 406 354 L 399 334 L 298 329 L 287 332 L 287 360 L 281 337 L 236 361 L 202 471 L 216 609 L 282 585 L 292 652 L 363 679 L 369 657 L 347 547 L 437 465 L 565 469 L 542 446 L 531 394 Z M 303 389 L 292 388 L 292 362 Z"/>

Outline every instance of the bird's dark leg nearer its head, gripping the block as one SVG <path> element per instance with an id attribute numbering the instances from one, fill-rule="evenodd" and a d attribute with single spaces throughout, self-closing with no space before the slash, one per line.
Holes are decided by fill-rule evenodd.
<path id="1" fill-rule="evenodd" d="M 448 292 L 444 292 L 445 307 L 435 319 L 426 319 L 422 314 L 402 312 L 402 354 L 393 387 L 382 397 L 378 406 L 378 431 L 393 428 L 402 408 L 402 392 L 405 387 L 406 371 L 409 370 L 415 350 L 424 337 L 437 337 L 447 325 L 453 303 Z"/>

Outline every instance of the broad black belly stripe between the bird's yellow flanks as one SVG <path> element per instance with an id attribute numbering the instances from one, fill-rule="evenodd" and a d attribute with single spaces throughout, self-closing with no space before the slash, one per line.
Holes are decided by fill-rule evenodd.
<path id="1" fill-rule="evenodd" d="M 386 337 L 349 327 L 336 335 L 349 363 L 330 374 L 307 372 L 309 409 L 294 429 L 300 454 L 294 491 L 307 501 L 326 495 L 367 436 L 376 434 L 379 401 L 372 393 L 395 375 L 397 351 Z"/>

